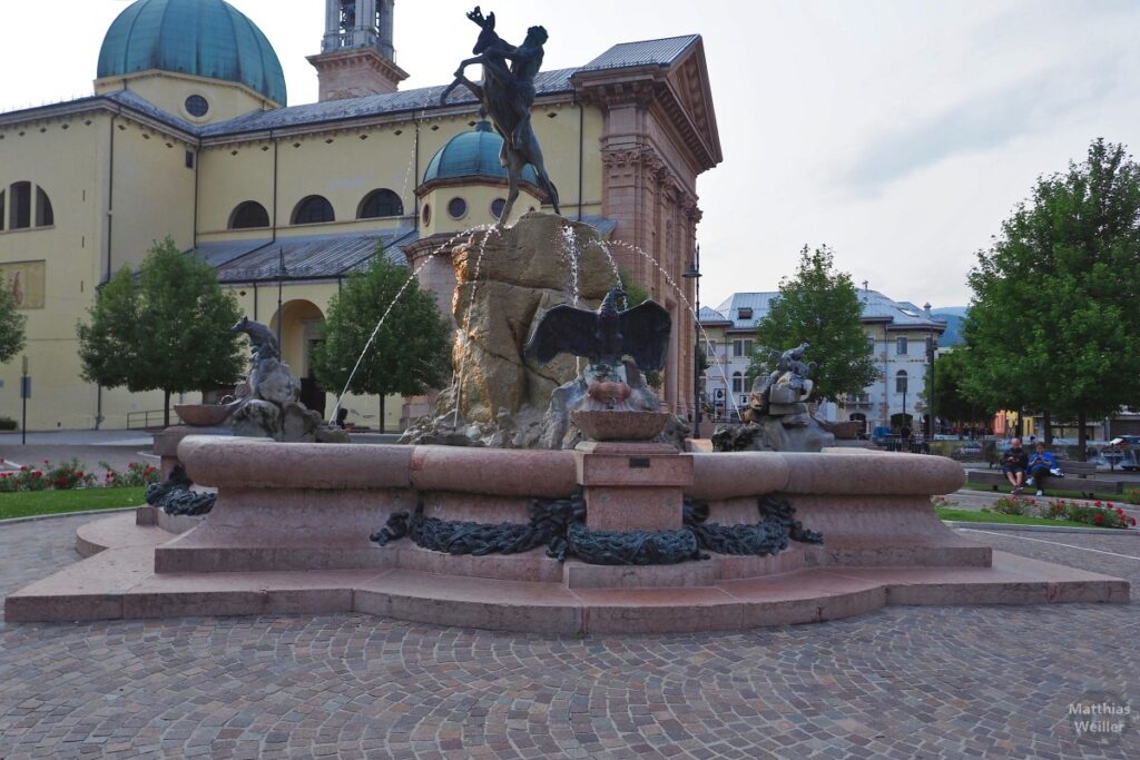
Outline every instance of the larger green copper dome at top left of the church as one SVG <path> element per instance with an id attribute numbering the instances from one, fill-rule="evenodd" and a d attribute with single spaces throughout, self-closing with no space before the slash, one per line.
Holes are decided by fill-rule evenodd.
<path id="1" fill-rule="evenodd" d="M 272 46 L 223 0 L 138 0 L 121 13 L 99 50 L 99 79 L 152 68 L 238 82 L 286 105 Z"/>

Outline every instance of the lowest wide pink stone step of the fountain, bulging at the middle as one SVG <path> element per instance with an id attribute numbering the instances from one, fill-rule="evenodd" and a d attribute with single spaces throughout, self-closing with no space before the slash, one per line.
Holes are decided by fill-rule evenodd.
<path id="1" fill-rule="evenodd" d="M 112 548 L 13 594 L 9 622 L 365 612 L 540 634 L 665 634 L 836 620 L 887 604 L 1127 603 L 1129 583 L 994 553 L 993 567 L 808 567 L 687 588 L 575 588 L 412 570 L 157 574 Z"/>

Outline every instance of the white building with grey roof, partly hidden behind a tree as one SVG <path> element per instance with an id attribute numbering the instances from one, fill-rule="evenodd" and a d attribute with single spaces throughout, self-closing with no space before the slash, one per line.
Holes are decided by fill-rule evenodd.
<path id="1" fill-rule="evenodd" d="M 779 292 L 734 293 L 716 309 L 701 308 L 701 327 L 709 338 L 703 398 L 719 419 L 734 417 L 735 409 L 748 403 L 748 365 L 755 349 L 756 325 L 779 295 Z M 920 308 L 870 289 L 862 289 L 858 295 L 863 301 L 863 332 L 880 367 L 879 377 L 863 393 L 836 399 L 836 407 L 826 409 L 824 415 L 862 422 L 868 431 L 879 426 L 897 430 L 905 420 L 918 434 L 926 412 L 922 391 L 929 374 L 927 343 L 937 346 L 946 322 L 930 313 L 930 304 Z"/>

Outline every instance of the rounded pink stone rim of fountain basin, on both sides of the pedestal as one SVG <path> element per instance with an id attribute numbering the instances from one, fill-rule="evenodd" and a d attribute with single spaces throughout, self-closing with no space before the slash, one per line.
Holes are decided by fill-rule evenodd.
<path id="1" fill-rule="evenodd" d="M 951 493 L 964 481 L 945 457 L 901 453 L 678 453 L 692 457 L 695 499 L 758 493 Z M 563 498 L 578 491 L 575 452 L 435 446 L 277 443 L 190 435 L 178 447 L 202 485 L 264 489 L 410 489 Z"/>

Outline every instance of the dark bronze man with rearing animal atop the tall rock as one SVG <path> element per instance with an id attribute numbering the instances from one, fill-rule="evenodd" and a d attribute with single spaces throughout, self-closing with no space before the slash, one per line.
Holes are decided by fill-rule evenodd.
<path id="1" fill-rule="evenodd" d="M 483 113 L 503 138 L 499 163 L 507 170 L 507 198 L 499 214 L 499 224 L 511 215 L 527 164 L 535 167 L 539 188 L 554 206 L 554 213 L 561 214 L 559 191 L 546 173 L 543 150 L 530 124 L 530 107 L 535 104 L 535 76 L 543 65 L 546 30 L 531 26 L 527 30 L 522 44 L 513 46 L 495 32 L 495 14 L 483 16 L 479 6 L 475 6 L 467 18 L 481 30 L 472 49 L 474 57 L 459 64 L 455 81 L 440 96 L 440 104 L 446 103 L 451 91 L 463 84 L 479 98 Z M 466 67 L 474 64 L 483 67 L 482 84 L 472 82 L 465 75 Z"/>

